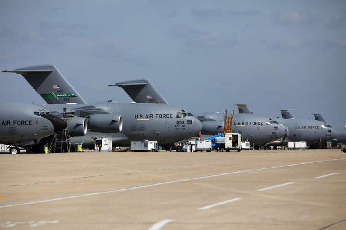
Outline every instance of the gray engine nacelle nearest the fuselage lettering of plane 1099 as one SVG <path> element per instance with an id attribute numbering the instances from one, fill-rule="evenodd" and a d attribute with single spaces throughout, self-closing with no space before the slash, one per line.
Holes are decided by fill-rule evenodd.
<path id="1" fill-rule="evenodd" d="M 89 118 L 88 128 L 92 132 L 121 132 L 122 117 L 118 114 L 94 114 Z"/>

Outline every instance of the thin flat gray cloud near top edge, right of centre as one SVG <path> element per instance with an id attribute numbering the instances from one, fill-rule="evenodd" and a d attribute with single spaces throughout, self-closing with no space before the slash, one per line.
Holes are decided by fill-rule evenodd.
<path id="1" fill-rule="evenodd" d="M 260 15 L 257 10 L 247 10 L 247 11 L 234 11 L 234 10 L 224 10 L 220 8 L 214 9 L 193 9 L 191 10 L 191 15 L 197 19 L 220 19 L 220 18 L 231 18 L 231 17 L 245 17 L 245 16 L 256 16 Z"/>

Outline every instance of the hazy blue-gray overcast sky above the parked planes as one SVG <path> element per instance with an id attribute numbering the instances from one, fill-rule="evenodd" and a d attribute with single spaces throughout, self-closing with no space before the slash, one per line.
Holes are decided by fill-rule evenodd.
<path id="1" fill-rule="evenodd" d="M 194 114 L 237 110 L 346 124 L 345 1 L 0 1 L 0 70 L 55 64 L 87 102 L 131 102 L 147 78 Z M 1 73 L 0 100 L 42 104 Z"/>

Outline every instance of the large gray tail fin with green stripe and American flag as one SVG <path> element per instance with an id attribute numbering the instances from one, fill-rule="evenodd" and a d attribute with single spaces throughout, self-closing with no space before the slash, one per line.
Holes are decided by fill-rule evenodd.
<path id="1" fill-rule="evenodd" d="M 47 104 L 86 103 L 54 65 L 28 66 L 2 72 L 21 74 Z"/>

